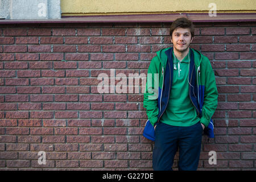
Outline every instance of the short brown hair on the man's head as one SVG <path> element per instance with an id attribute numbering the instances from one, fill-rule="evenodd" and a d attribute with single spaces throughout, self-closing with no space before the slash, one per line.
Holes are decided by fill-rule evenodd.
<path id="1" fill-rule="evenodd" d="M 195 28 L 194 28 L 193 23 L 191 22 L 191 20 L 183 17 L 183 18 L 178 18 L 174 22 L 172 22 L 171 27 L 170 27 L 171 38 L 172 38 L 172 32 L 174 32 L 174 30 L 178 27 L 190 28 L 191 38 L 193 38 L 193 36 L 195 35 Z"/>

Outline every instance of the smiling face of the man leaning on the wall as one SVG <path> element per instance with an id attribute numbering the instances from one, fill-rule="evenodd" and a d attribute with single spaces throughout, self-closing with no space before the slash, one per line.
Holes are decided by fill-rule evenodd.
<path id="1" fill-rule="evenodd" d="M 174 44 L 174 49 L 179 52 L 185 52 L 192 42 L 191 32 L 189 28 L 176 28 L 172 32 L 171 42 Z"/>

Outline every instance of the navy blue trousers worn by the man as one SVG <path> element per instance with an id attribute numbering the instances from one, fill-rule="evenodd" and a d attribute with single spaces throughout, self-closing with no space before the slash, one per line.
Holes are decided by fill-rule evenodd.
<path id="1" fill-rule="evenodd" d="M 174 156 L 179 148 L 179 170 L 196 171 L 200 158 L 202 133 L 203 127 L 200 122 L 187 127 L 159 122 L 155 128 L 153 169 L 172 171 Z"/>

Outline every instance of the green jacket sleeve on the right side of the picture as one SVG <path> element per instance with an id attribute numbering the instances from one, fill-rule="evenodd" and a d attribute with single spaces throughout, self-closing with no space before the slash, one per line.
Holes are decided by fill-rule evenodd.
<path id="1" fill-rule="evenodd" d="M 207 59 L 205 62 L 204 105 L 202 108 L 202 117 L 200 118 L 200 122 L 207 127 L 209 125 L 210 118 L 212 118 L 212 115 L 218 105 L 218 91 L 210 61 Z"/>

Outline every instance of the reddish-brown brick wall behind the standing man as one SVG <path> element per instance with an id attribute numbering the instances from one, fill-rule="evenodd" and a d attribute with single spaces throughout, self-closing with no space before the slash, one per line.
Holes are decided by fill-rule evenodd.
<path id="1" fill-rule="evenodd" d="M 209 57 L 219 93 L 216 137 L 203 137 L 199 170 L 255 169 L 256 23 L 195 24 L 192 47 Z M 169 26 L 2 24 L 0 169 L 152 169 L 143 94 L 100 94 L 97 76 L 147 73 L 170 46 Z"/>

